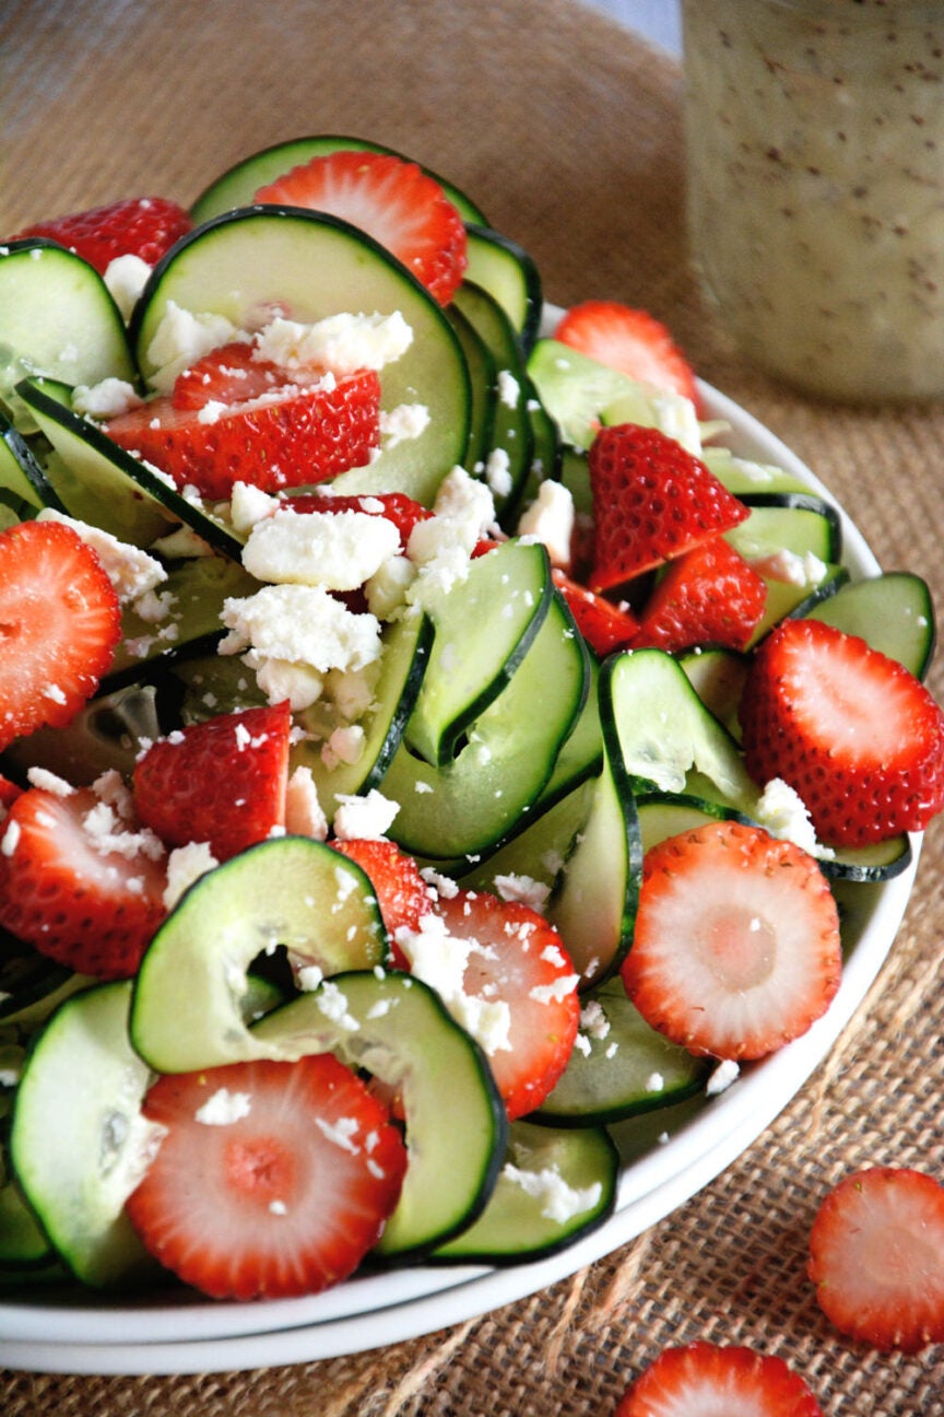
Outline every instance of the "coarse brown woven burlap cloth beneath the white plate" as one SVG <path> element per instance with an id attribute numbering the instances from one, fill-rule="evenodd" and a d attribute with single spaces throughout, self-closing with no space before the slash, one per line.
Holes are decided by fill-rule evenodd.
<path id="1" fill-rule="evenodd" d="M 944 408 L 852 411 L 744 367 L 699 303 L 682 231 L 681 75 L 576 0 L 3 0 L 0 231 L 126 194 L 181 201 L 314 132 L 449 174 L 535 256 L 558 303 L 650 307 L 699 371 L 827 482 L 883 565 L 944 605 Z M 941 666 L 933 679 L 938 697 Z M 4 1417 L 563 1417 L 609 1413 L 668 1343 L 780 1353 L 831 1417 L 944 1413 L 944 1353 L 836 1336 L 804 1278 L 815 1207 L 869 1163 L 944 1172 L 944 832 L 892 956 L 825 1066 L 668 1220 L 493 1315 L 369 1353 L 178 1377 L 6 1373 Z"/>

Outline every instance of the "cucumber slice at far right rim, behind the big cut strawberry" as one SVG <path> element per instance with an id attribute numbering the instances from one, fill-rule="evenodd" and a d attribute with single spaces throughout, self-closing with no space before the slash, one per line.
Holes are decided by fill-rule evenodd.
<path id="1" fill-rule="evenodd" d="M 859 635 L 872 649 L 897 659 L 916 679 L 927 674 L 937 632 L 931 592 L 920 575 L 886 571 L 851 581 L 807 615 L 846 635 Z"/>

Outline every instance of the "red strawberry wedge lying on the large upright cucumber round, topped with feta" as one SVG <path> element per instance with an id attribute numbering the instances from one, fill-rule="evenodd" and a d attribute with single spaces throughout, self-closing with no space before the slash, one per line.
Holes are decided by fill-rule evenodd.
<path id="1" fill-rule="evenodd" d="M 265 378 L 277 366 L 260 364 L 259 370 Z M 379 445 L 381 384 L 374 370 L 314 384 L 282 370 L 277 374 L 275 387 L 225 404 L 195 402 L 200 374 L 191 371 L 181 376 L 180 394 L 163 394 L 119 414 L 105 432 L 178 487 L 194 486 L 218 502 L 231 496 L 236 482 L 273 493 L 326 482 L 369 461 Z M 252 380 L 259 377 L 256 371 Z M 242 394 L 238 378 L 231 391 Z M 185 407 L 177 407 L 175 398 Z"/>

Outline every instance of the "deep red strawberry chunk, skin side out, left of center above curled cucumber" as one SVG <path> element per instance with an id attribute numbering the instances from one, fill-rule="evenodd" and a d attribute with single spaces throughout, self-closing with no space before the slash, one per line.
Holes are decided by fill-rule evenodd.
<path id="1" fill-rule="evenodd" d="M 284 825 L 289 704 L 218 714 L 160 738 L 134 767 L 134 805 L 167 846 L 207 842 L 218 862 Z"/>

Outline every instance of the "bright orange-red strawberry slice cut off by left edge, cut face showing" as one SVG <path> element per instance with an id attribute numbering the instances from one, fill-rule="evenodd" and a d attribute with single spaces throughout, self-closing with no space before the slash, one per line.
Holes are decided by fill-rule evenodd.
<path id="1" fill-rule="evenodd" d="M 98 689 L 122 635 L 95 551 L 61 521 L 0 533 L 0 748 L 62 727 Z"/>

